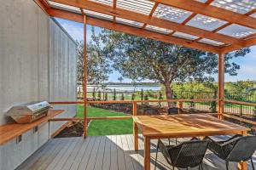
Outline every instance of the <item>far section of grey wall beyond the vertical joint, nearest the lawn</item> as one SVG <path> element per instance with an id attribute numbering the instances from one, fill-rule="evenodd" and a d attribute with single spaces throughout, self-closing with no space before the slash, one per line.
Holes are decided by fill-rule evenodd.
<path id="1" fill-rule="evenodd" d="M 76 44 L 62 31 L 55 20 L 49 20 L 49 100 L 76 100 Z M 56 117 L 75 116 L 75 105 L 55 105 L 64 113 Z M 50 132 L 60 128 L 64 122 L 54 122 Z"/>

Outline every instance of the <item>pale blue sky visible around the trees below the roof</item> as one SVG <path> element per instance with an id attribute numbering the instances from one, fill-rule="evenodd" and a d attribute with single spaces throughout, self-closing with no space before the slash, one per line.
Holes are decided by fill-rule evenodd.
<path id="1" fill-rule="evenodd" d="M 83 41 L 84 34 L 84 25 L 81 23 L 56 19 L 61 26 L 73 37 L 74 40 Z M 91 37 L 91 26 L 87 26 L 87 41 L 90 41 Z M 95 27 L 96 34 L 101 31 L 101 28 Z M 240 65 L 241 69 L 238 72 L 236 77 L 230 77 L 229 75 L 225 75 L 225 82 L 236 82 L 241 80 L 254 80 L 256 81 L 256 46 L 251 47 L 251 53 L 247 54 L 245 57 L 233 59 L 232 62 Z M 121 77 L 119 71 L 113 71 L 112 74 L 109 75 L 108 82 L 119 82 L 118 77 Z M 212 75 L 217 81 L 218 76 Z M 123 82 L 131 82 L 130 79 L 124 77 Z M 150 82 L 150 81 L 146 81 Z"/>

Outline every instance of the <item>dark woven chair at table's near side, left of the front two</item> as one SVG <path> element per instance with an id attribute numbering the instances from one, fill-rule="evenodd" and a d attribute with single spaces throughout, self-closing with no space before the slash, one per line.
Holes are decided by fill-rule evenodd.
<path id="1" fill-rule="evenodd" d="M 158 150 L 165 156 L 166 161 L 174 167 L 187 168 L 199 166 L 203 169 L 202 160 L 206 154 L 209 140 L 190 140 L 177 145 L 165 145 L 159 139 L 156 156 L 154 162 L 154 169 L 156 167 Z"/>

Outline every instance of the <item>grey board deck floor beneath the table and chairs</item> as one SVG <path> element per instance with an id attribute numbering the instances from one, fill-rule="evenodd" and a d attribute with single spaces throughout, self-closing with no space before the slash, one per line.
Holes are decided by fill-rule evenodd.
<path id="1" fill-rule="evenodd" d="M 167 140 L 166 143 L 168 143 Z M 139 150 L 134 150 L 133 144 L 131 134 L 87 137 L 86 139 L 82 137 L 50 139 L 17 170 L 142 170 L 144 154 L 142 136 L 139 136 Z M 154 169 L 156 144 L 157 140 L 151 141 L 151 169 Z M 175 144 L 173 139 L 172 144 Z M 255 163 L 255 157 L 253 161 Z M 169 170 L 170 167 L 159 152 L 156 169 Z M 221 170 L 225 169 L 225 164 L 223 160 L 207 151 L 203 167 L 205 170 Z M 195 169 L 198 167 L 192 168 L 192 170 Z M 230 163 L 230 170 L 233 169 L 236 169 L 236 163 Z M 250 164 L 248 169 L 252 169 Z"/>

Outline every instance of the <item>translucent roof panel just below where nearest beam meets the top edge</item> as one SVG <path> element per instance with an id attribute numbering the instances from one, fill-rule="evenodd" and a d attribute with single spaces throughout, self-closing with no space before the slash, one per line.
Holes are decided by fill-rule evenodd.
<path id="1" fill-rule="evenodd" d="M 164 20 L 182 23 L 191 14 L 192 13 L 189 11 L 180 8 L 166 6 L 160 3 L 158 7 L 155 9 L 153 16 Z"/>

